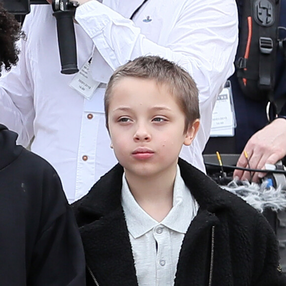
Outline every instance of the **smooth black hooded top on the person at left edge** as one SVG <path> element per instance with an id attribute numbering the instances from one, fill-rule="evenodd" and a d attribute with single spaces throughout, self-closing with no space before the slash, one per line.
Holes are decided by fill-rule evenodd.
<path id="1" fill-rule="evenodd" d="M 0 285 L 83 286 L 81 239 L 55 170 L 0 124 Z"/>

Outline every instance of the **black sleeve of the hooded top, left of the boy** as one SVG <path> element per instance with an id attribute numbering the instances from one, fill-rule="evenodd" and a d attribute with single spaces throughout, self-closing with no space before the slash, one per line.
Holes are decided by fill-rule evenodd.
<path id="1" fill-rule="evenodd" d="M 27 285 L 84 286 L 85 258 L 72 209 L 51 168 L 43 176 L 40 231 Z"/>

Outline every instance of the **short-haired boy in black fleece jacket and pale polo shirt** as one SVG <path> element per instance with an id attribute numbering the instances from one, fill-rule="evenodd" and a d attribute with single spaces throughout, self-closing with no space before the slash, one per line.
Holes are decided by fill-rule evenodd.
<path id="1" fill-rule="evenodd" d="M 200 124 L 186 71 L 139 57 L 111 76 L 105 111 L 119 164 L 72 204 L 87 286 L 286 285 L 262 214 L 179 158 Z"/>

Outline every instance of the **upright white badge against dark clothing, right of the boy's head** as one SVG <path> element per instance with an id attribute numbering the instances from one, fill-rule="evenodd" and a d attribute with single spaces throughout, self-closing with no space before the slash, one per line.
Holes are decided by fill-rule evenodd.
<path id="1" fill-rule="evenodd" d="M 217 96 L 214 105 L 211 137 L 234 136 L 235 127 L 236 120 L 232 90 L 228 80 L 221 93 Z"/>

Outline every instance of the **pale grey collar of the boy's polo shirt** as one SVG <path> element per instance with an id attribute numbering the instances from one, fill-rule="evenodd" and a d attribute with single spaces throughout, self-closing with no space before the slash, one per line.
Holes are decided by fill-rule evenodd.
<path id="1" fill-rule="evenodd" d="M 181 178 L 178 165 L 174 183 L 173 208 L 161 222 L 153 219 L 139 206 L 129 189 L 125 174 L 122 178 L 121 203 L 128 231 L 135 239 L 159 224 L 185 234 L 198 211 L 198 204 Z"/>

